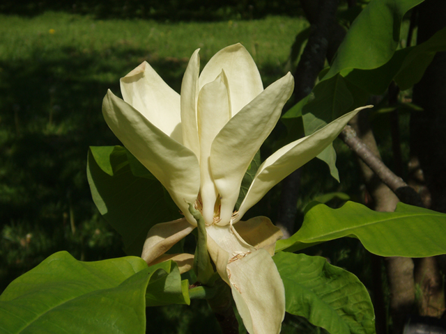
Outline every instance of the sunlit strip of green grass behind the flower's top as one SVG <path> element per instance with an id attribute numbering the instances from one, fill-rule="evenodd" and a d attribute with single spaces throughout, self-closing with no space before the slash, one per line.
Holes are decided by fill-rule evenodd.
<path id="1" fill-rule="evenodd" d="M 290 17 L 163 24 L 49 12 L 31 19 L 5 15 L 0 19 L 0 61 L 95 55 L 101 63 L 134 63 L 133 67 L 143 60 L 185 62 L 197 48 L 201 48 L 201 59 L 206 62 L 215 52 L 236 42 L 245 45 L 259 67 L 280 67 L 289 55 L 295 34 L 307 26 L 305 20 Z M 91 78 L 108 81 L 130 70 L 96 70 Z"/>

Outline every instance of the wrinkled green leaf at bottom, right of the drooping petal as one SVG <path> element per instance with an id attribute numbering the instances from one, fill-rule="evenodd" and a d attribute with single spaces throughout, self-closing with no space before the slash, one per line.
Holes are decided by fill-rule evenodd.
<path id="1" fill-rule="evenodd" d="M 375 333 L 370 296 L 353 273 L 323 257 L 279 252 L 272 259 L 284 282 L 286 312 L 331 334 Z"/>

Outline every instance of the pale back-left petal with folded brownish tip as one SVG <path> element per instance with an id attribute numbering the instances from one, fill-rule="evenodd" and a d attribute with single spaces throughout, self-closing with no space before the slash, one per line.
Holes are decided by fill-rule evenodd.
<path id="1" fill-rule="evenodd" d="M 146 61 L 121 78 L 121 93 L 164 134 L 182 143 L 180 95 Z"/>

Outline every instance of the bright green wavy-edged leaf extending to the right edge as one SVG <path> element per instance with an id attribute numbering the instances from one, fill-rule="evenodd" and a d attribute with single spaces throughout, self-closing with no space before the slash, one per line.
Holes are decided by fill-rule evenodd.
<path id="1" fill-rule="evenodd" d="M 427 257 L 446 253 L 446 214 L 398 203 L 395 212 L 376 212 L 355 202 L 339 209 L 309 209 L 302 228 L 279 240 L 276 250 L 293 252 L 341 237 L 360 239 L 381 256 Z"/>

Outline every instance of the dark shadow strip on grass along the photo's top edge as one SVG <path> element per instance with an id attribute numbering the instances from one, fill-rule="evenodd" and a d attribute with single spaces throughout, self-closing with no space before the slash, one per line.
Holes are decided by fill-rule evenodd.
<path id="1" fill-rule="evenodd" d="M 237 0 L 3 0 L 0 13 L 34 17 L 46 10 L 93 15 L 97 19 L 155 19 L 162 22 L 215 22 L 228 19 L 260 19 L 268 15 L 298 16 L 296 1 Z"/>

